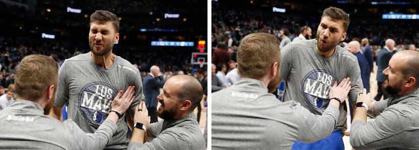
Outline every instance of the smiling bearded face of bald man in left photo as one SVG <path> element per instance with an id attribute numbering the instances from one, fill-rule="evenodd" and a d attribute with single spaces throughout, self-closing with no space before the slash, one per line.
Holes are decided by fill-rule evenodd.
<path id="1" fill-rule="evenodd" d="M 174 84 L 173 81 L 166 81 L 163 86 L 163 93 L 160 93 L 159 96 L 157 96 L 157 99 L 161 104 L 157 110 L 157 115 L 160 118 L 165 120 L 175 119 L 174 117 L 183 105 L 177 98 L 178 90 L 179 86 Z"/>

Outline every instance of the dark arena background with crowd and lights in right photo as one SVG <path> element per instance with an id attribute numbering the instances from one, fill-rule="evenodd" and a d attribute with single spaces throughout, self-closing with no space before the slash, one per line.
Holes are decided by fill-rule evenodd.
<path id="1" fill-rule="evenodd" d="M 288 37 L 291 41 L 300 35 L 303 26 L 311 29 L 311 39 L 316 38 L 323 10 L 337 7 L 349 14 L 350 24 L 346 39 L 340 46 L 348 48 L 348 43 L 361 43 L 360 51 L 365 48 L 362 39 L 366 38 L 372 48 L 373 71 L 369 79 L 371 96 L 377 95 L 377 55 L 385 47 L 387 39 L 395 41 L 393 53 L 401 50 L 418 50 L 419 44 L 419 1 L 279 1 L 244 0 L 212 1 L 212 52 L 217 66 L 213 76 L 229 74 L 231 63 L 236 62 L 236 52 L 241 39 L 256 32 L 270 33 L 280 41 Z M 286 33 L 286 34 L 284 34 Z M 306 35 L 306 33 L 303 33 Z M 306 36 L 308 37 L 308 36 Z M 215 55 L 225 51 L 228 60 L 221 62 L 227 66 L 223 70 Z M 233 62 L 234 61 L 234 62 Z M 228 62 L 228 63 L 225 63 Z M 224 65 L 222 64 L 222 65 Z M 233 65 L 234 66 L 234 65 Z M 228 77 L 227 77 L 228 78 Z M 229 87 L 231 82 L 213 85 Z M 282 98 L 284 87 L 278 87 L 277 97 Z M 213 88 L 213 92 L 214 88 Z M 380 99 L 380 98 L 378 98 Z M 348 119 L 350 115 L 348 114 Z M 370 118 L 371 119 L 371 118 Z M 350 125 L 350 120 L 348 120 Z M 348 126 L 350 128 L 350 126 Z M 343 137 L 346 149 L 351 149 L 349 136 Z"/>

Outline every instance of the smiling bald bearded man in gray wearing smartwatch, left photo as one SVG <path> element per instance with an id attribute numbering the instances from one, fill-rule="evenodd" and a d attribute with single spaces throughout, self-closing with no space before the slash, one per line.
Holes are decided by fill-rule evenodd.
<path id="1" fill-rule="evenodd" d="M 205 141 L 193 114 L 202 99 L 202 87 L 192 76 L 167 80 L 157 99 L 157 114 L 163 120 L 149 124 L 144 102 L 137 106 L 135 127 L 128 149 L 205 149 Z M 145 134 L 147 132 L 147 134 Z M 144 138 L 147 141 L 144 143 Z"/>

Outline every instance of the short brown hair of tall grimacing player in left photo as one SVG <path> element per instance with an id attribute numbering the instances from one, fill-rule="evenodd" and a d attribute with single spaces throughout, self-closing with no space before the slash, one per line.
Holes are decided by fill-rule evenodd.
<path id="1" fill-rule="evenodd" d="M 95 11 L 90 15 L 90 24 L 92 22 L 112 22 L 115 27 L 115 33 L 119 33 L 119 19 L 117 15 L 109 11 Z"/>

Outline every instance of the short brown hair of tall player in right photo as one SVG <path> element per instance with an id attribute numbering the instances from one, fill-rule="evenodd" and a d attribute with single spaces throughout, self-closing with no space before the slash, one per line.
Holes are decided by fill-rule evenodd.
<path id="1" fill-rule="evenodd" d="M 323 11 L 322 18 L 323 17 L 330 17 L 332 19 L 343 21 L 343 31 L 346 32 L 346 30 L 348 30 L 350 19 L 349 15 L 346 14 L 345 11 L 339 8 L 329 7 Z"/>

